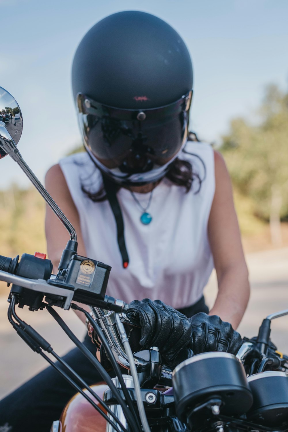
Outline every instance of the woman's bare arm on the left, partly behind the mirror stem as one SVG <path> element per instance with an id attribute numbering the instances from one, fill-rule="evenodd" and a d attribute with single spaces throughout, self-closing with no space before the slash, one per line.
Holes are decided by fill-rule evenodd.
<path id="1" fill-rule="evenodd" d="M 85 257 L 86 251 L 81 235 L 79 214 L 72 200 L 66 180 L 59 165 L 54 165 L 48 170 L 45 177 L 45 187 L 75 228 L 78 242 L 77 253 Z M 57 216 L 55 216 L 54 212 L 48 205 L 46 205 L 45 232 L 48 256 L 52 261 L 54 273 L 57 273 L 57 267 L 59 265 L 63 249 L 66 247 L 67 241 L 70 240 L 70 237 L 66 228 L 62 225 L 60 220 L 57 218 Z M 81 307 L 89 311 L 88 306 L 81 305 Z M 85 315 L 79 311 L 75 312 L 79 318 L 85 322 Z"/>

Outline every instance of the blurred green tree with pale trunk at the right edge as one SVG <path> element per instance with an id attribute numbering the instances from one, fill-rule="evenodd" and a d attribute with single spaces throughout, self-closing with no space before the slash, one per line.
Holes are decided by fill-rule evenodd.
<path id="1" fill-rule="evenodd" d="M 220 150 L 234 185 L 269 219 L 272 243 L 279 245 L 280 219 L 288 215 L 288 95 L 268 86 L 259 112 L 257 126 L 233 119 Z"/>

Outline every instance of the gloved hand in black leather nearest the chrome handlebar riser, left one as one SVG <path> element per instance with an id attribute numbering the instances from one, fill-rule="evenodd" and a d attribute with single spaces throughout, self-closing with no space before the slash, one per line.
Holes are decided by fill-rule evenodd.
<path id="1" fill-rule="evenodd" d="M 141 327 L 138 347 L 134 330 L 127 332 L 133 352 L 158 346 L 165 364 L 172 367 L 193 356 L 189 319 L 171 306 L 160 300 L 135 300 L 128 305 L 127 315 Z"/>

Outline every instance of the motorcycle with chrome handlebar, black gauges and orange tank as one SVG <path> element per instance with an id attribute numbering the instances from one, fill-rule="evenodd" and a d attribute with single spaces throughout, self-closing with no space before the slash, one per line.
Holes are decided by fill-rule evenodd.
<path id="1" fill-rule="evenodd" d="M 77 254 L 75 229 L 17 149 L 22 113 L 16 100 L 0 88 L 0 111 L 2 105 L 11 107 L 19 121 L 13 137 L 0 121 L 0 159 L 9 154 L 18 163 L 70 234 L 57 275 L 52 274 L 52 263 L 44 254 L 23 254 L 20 260 L 19 255 L 13 259 L 0 256 L 0 280 L 12 284 L 9 322 L 78 392 L 60 419 L 55 419 L 51 432 L 288 431 L 288 356 L 277 351 L 270 340 L 271 320 L 288 310 L 266 317 L 257 337 L 244 340 L 236 356 L 206 352 L 184 360 L 172 371 L 163 364 L 156 346 L 133 353 L 125 329 L 137 324 L 125 314 L 127 304 L 106 295 L 111 267 Z M 75 302 L 89 305 L 91 312 Z M 92 362 L 103 382 L 89 387 L 50 343 L 19 317 L 16 305 L 28 306 L 31 311 L 46 308 Z M 114 378 L 76 338 L 57 308 L 85 314 L 111 362 Z"/>

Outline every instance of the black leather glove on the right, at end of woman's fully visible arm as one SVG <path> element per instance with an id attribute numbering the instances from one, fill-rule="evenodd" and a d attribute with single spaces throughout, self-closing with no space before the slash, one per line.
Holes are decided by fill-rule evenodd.
<path id="1" fill-rule="evenodd" d="M 206 351 L 224 351 L 237 354 L 243 340 L 231 324 L 217 315 L 204 312 L 189 318 L 192 327 L 192 349 L 194 354 Z"/>

